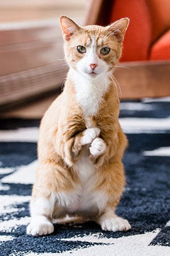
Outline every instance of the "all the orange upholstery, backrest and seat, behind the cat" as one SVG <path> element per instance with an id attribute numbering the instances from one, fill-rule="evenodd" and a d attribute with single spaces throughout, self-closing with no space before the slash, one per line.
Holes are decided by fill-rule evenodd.
<path id="1" fill-rule="evenodd" d="M 170 1 L 114 0 L 109 22 L 128 16 L 121 61 L 170 59 Z"/>

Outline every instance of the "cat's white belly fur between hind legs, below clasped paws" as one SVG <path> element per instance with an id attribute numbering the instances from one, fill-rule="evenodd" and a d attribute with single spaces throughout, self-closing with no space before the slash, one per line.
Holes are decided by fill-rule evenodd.
<path id="1" fill-rule="evenodd" d="M 88 148 L 88 146 L 87 146 Z M 67 210 L 71 212 L 96 212 L 104 208 L 107 196 L 95 190 L 96 171 L 89 160 L 88 150 L 84 151 L 82 158 L 76 163 L 79 172 L 80 184 L 70 193 L 70 204 Z"/>

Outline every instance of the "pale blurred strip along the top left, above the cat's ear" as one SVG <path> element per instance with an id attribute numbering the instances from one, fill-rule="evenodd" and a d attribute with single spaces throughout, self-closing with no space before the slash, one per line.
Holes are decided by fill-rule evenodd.
<path id="1" fill-rule="evenodd" d="M 58 19 L 61 14 L 83 20 L 87 2 L 86 0 L 1 0 L 0 22 Z"/>

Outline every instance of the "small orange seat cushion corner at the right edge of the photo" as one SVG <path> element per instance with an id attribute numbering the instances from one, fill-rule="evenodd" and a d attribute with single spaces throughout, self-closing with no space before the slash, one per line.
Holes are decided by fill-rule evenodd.
<path id="1" fill-rule="evenodd" d="M 150 60 L 170 60 L 170 30 L 152 46 Z"/>

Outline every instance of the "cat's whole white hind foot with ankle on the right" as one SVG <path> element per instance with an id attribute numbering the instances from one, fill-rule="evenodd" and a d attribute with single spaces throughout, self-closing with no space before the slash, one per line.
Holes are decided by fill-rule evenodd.
<path id="1" fill-rule="evenodd" d="M 112 208 L 105 209 L 96 222 L 101 226 L 101 229 L 113 232 L 127 231 L 131 228 L 128 220 L 118 217 Z"/>

